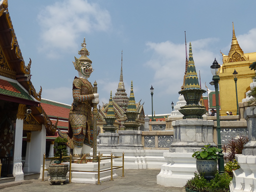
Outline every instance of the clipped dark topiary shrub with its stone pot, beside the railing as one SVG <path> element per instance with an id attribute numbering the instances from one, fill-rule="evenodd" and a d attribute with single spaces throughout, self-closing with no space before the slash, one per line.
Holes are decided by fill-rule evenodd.
<path id="1" fill-rule="evenodd" d="M 53 146 L 53 148 L 57 149 L 57 151 L 54 153 L 54 157 L 59 158 L 57 158 L 58 160 L 54 161 L 54 164 L 49 165 L 48 173 L 50 174 L 50 184 L 57 181 L 59 181 L 60 184 L 63 184 L 66 181 L 66 173 L 68 171 L 68 165 L 62 163 L 63 161 L 66 161 L 66 158 L 63 158 L 63 156 L 67 156 L 65 145 L 67 139 L 57 137 L 55 138 L 54 142 L 57 143 L 57 146 Z"/>

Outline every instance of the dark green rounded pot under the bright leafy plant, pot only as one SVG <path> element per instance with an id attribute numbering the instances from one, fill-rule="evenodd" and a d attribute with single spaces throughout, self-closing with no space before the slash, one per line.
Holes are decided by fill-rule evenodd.
<path id="1" fill-rule="evenodd" d="M 199 173 L 204 173 L 204 178 L 210 180 L 217 172 L 217 160 L 196 159 L 196 169 Z"/>

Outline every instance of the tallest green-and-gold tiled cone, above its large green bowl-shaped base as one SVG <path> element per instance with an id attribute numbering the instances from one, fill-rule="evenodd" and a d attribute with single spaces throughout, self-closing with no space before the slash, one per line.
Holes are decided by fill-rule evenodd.
<path id="1" fill-rule="evenodd" d="M 194 60 L 193 60 L 191 42 L 189 42 L 189 57 L 188 57 L 188 65 L 187 65 L 187 71 L 185 75 L 185 84 L 184 84 L 184 90 L 185 89 L 200 89 L 197 73 L 195 70 Z"/>

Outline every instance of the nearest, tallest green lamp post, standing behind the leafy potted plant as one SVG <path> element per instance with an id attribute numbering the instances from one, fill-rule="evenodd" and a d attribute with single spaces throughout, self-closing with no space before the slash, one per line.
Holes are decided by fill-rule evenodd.
<path id="1" fill-rule="evenodd" d="M 216 120 L 217 120 L 217 145 L 220 149 L 220 152 L 218 153 L 218 172 L 220 174 L 224 173 L 224 158 L 223 153 L 221 149 L 221 139 L 220 139 L 220 123 L 219 123 L 219 105 L 218 105 L 218 81 L 219 81 L 219 72 L 220 72 L 220 65 L 216 61 L 216 58 L 214 59 L 212 65 L 210 66 L 211 73 L 213 75 L 212 80 L 214 81 L 214 87 L 215 87 L 215 101 L 216 101 Z"/>

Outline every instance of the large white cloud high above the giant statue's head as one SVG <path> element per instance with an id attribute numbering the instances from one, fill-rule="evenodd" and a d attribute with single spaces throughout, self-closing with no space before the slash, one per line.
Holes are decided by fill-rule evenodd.
<path id="1" fill-rule="evenodd" d="M 87 0 L 55 2 L 44 7 L 37 18 L 42 30 L 39 50 L 46 51 L 48 57 L 53 57 L 52 51 L 56 49 L 75 49 L 75 39 L 80 33 L 107 31 L 111 26 L 108 11 Z"/>

